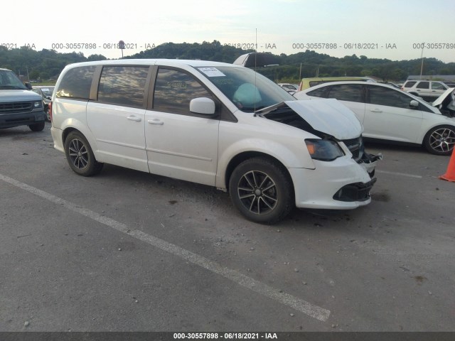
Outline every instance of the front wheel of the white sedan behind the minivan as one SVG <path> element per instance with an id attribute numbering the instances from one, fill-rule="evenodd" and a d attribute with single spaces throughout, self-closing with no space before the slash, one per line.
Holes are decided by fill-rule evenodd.
<path id="1" fill-rule="evenodd" d="M 424 147 L 435 155 L 451 155 L 454 146 L 454 126 L 436 126 L 424 137 Z"/>

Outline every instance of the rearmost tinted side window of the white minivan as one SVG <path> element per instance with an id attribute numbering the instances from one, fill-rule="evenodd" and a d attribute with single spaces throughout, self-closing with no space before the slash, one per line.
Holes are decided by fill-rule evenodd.
<path id="1" fill-rule="evenodd" d="M 57 97 L 88 100 L 95 68 L 96 66 L 92 65 L 68 70 L 60 81 L 56 92 Z"/>

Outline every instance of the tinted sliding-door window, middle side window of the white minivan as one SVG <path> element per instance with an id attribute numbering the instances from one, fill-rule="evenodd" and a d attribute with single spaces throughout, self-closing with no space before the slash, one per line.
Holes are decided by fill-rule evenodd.
<path id="1" fill-rule="evenodd" d="M 144 107 L 149 67 L 105 66 L 98 86 L 98 102 L 124 107 Z"/>

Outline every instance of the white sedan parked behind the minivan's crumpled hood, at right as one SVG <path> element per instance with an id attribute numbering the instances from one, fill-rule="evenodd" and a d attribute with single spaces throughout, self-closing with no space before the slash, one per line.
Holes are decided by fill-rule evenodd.
<path id="1" fill-rule="evenodd" d="M 437 107 L 390 85 L 370 82 L 326 83 L 294 97 L 338 99 L 363 124 L 365 139 L 423 145 L 430 153 L 450 155 L 455 145 L 455 118 L 447 107 L 451 92 L 434 102 Z"/>

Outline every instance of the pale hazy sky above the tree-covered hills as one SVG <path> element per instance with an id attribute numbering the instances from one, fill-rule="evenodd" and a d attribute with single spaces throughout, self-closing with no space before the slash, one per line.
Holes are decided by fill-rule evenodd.
<path id="1" fill-rule="evenodd" d="M 114 59 L 161 43 L 218 40 L 276 55 L 315 50 L 338 58 L 455 62 L 454 0 L 41 0 L 2 6 L 0 45 L 9 48 Z"/>

